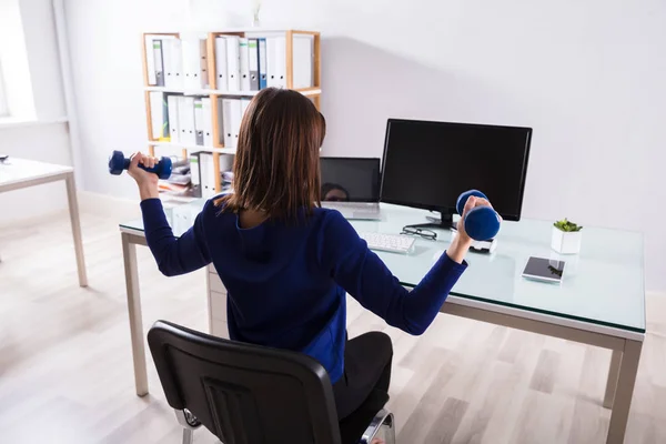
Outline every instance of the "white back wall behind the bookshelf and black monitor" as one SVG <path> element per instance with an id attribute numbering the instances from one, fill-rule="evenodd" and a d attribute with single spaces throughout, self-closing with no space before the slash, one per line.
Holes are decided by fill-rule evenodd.
<path id="1" fill-rule="evenodd" d="M 145 148 L 140 32 L 250 22 L 250 1 L 190 3 L 192 22 L 186 1 L 67 1 L 90 191 L 137 195 L 104 163 Z M 666 3 L 263 3 L 264 26 L 323 33 L 326 154 L 380 157 L 390 117 L 533 127 L 524 215 L 644 231 L 666 289 Z"/>

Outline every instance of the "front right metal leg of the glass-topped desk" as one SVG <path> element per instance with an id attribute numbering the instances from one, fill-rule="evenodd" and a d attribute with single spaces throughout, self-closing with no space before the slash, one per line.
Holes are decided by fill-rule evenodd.
<path id="1" fill-rule="evenodd" d="M 642 347 L 642 342 L 625 341 L 624 353 L 619 360 L 619 375 L 617 377 L 617 387 L 615 389 L 613 411 L 610 412 L 608 437 L 606 438 L 606 443 L 608 444 L 624 442 Z M 615 354 L 613 359 L 616 360 Z"/>

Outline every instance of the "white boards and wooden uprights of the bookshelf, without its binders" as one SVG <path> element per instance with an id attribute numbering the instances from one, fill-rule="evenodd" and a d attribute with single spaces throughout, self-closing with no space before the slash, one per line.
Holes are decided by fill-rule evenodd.
<path id="1" fill-rule="evenodd" d="M 189 33 L 191 34 L 191 33 Z M 299 34 L 304 34 L 312 38 L 312 81 L 307 88 L 293 88 L 294 87 L 294 38 Z M 184 36 L 184 34 L 183 34 Z M 200 39 L 204 39 L 203 33 L 196 33 Z M 208 72 L 208 87 L 209 88 L 171 88 L 150 84 L 149 70 L 151 69 L 148 60 L 148 47 L 150 39 L 159 40 L 164 39 L 179 39 L 181 40 L 180 32 L 144 32 L 141 36 L 142 46 L 142 59 L 143 59 L 143 93 L 145 101 L 145 122 L 148 129 L 148 151 L 151 155 L 155 155 L 160 149 L 169 149 L 171 152 L 180 150 L 181 155 L 184 159 L 189 158 L 191 152 L 209 152 L 213 158 L 213 178 L 215 192 L 222 191 L 222 179 L 220 171 L 220 157 L 221 155 L 234 155 L 235 147 L 224 147 L 220 138 L 222 129 L 219 128 L 221 121 L 220 114 L 222 113 L 221 107 L 219 107 L 220 98 L 234 98 L 234 99 L 251 99 L 256 95 L 259 90 L 253 91 L 230 91 L 226 89 L 218 88 L 218 62 L 215 60 L 216 40 L 220 37 L 239 37 L 243 39 L 260 39 L 260 38 L 272 38 L 272 37 L 284 37 L 285 46 L 285 59 L 284 59 L 284 88 L 293 89 L 299 91 L 303 95 L 310 98 L 314 105 L 320 109 L 320 98 L 322 94 L 321 88 L 321 36 L 316 31 L 303 31 L 303 30 L 262 30 L 262 29 L 234 29 L 219 32 L 205 33 L 205 70 Z M 202 65 L 203 70 L 203 65 Z M 195 97 L 195 98 L 210 98 L 210 112 L 212 119 L 212 144 L 201 145 L 193 143 L 181 143 L 173 142 L 171 138 L 154 138 L 153 131 L 153 117 L 151 107 L 151 93 L 162 92 L 165 94 L 175 94 L 183 97 Z M 158 154 L 159 155 L 159 154 Z"/>

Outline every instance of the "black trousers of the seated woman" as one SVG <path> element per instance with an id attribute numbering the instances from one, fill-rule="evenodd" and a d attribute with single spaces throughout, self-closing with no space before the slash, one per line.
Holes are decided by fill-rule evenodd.
<path id="1" fill-rule="evenodd" d="M 373 390 L 389 392 L 392 360 L 393 345 L 385 333 L 370 332 L 346 342 L 344 373 L 333 384 L 339 420 L 359 408 Z"/>

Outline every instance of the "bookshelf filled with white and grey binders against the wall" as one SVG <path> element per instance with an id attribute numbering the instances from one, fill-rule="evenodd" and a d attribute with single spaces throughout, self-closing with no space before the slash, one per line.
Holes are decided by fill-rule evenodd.
<path id="1" fill-rule="evenodd" d="M 215 192 L 221 157 L 235 154 L 242 115 L 261 89 L 294 89 L 320 108 L 319 32 L 149 32 L 142 46 L 149 152 L 212 153 Z"/>

